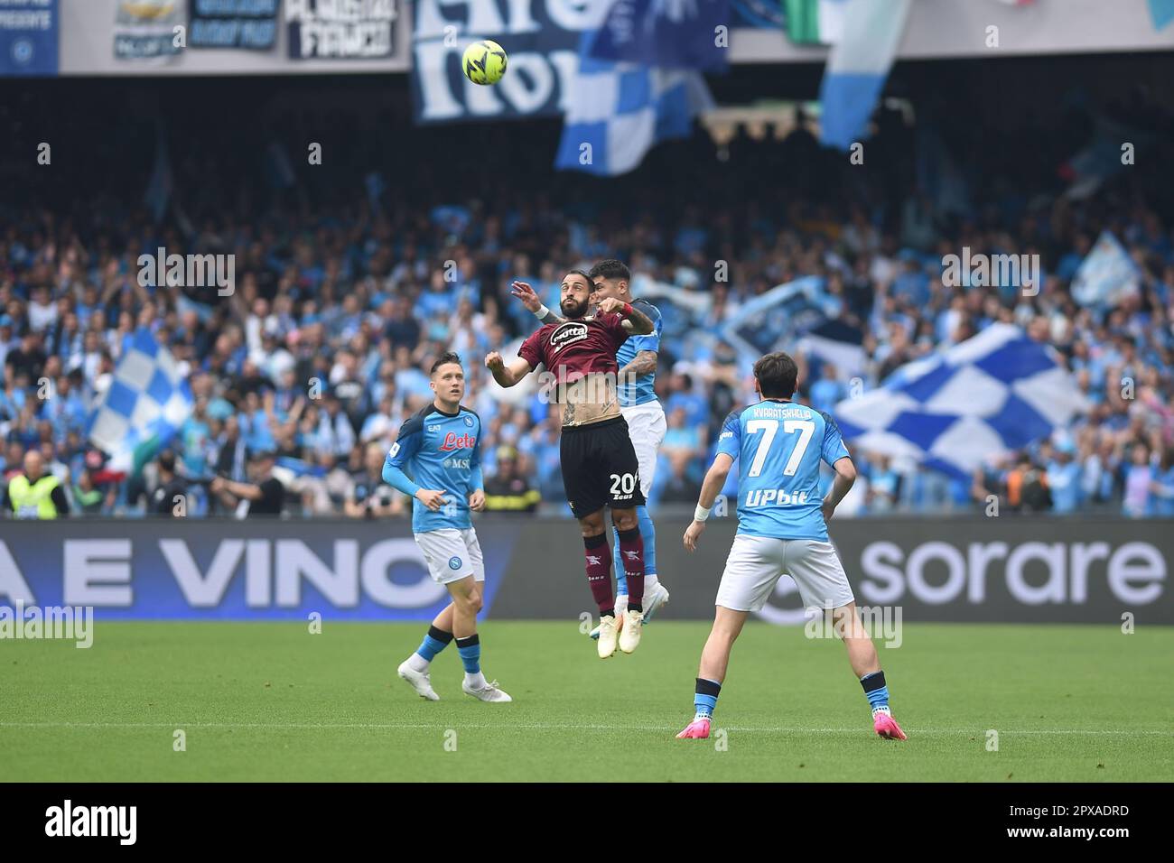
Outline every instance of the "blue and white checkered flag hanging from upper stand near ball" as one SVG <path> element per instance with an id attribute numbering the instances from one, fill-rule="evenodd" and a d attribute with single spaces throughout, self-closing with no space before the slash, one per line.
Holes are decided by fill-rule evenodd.
<path id="1" fill-rule="evenodd" d="M 592 59 L 594 36 L 586 32 L 580 41 L 554 167 L 618 176 L 637 168 L 654 144 L 691 135 L 693 117 L 714 102 L 700 72 Z"/>

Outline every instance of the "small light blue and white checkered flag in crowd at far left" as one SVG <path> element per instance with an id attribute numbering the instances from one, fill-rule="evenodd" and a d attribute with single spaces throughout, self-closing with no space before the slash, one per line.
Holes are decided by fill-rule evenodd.
<path id="1" fill-rule="evenodd" d="M 171 352 L 140 328 L 89 416 L 87 434 L 110 456 L 112 466 L 126 470 L 140 445 L 153 439 L 164 445 L 187 422 L 194 403 Z"/>

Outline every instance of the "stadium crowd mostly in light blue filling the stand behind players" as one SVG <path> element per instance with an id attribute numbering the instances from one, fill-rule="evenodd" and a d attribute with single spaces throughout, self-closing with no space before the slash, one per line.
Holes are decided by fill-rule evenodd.
<path id="1" fill-rule="evenodd" d="M 802 140 L 787 144 L 802 151 Z M 745 151 L 764 146 L 747 142 Z M 742 170 L 753 183 L 754 169 Z M 433 358 L 452 349 L 465 360 L 465 404 L 487 430 L 488 508 L 569 514 L 556 413 L 537 387 L 497 387 L 483 358 L 538 325 L 510 297 L 512 279 L 555 308 L 567 268 L 615 256 L 706 297 L 696 319 L 684 329 L 669 322 L 662 336 L 656 391 L 668 432 L 654 511 L 691 507 L 722 420 L 753 399 L 749 364 L 722 341 L 722 323 L 775 285 L 816 275 L 830 316 L 864 333 L 859 385 L 1010 322 L 1054 345 L 1092 405 L 1071 429 L 967 480 L 857 452 L 862 479 L 841 513 L 979 512 L 997 495 L 1005 511 L 1174 515 L 1174 224 L 1143 186 L 1109 182 L 1073 198 L 991 182 L 972 189 L 959 215 L 927 195 L 893 200 L 880 181 L 835 203 L 799 183 L 783 204 L 765 193 L 707 197 L 701 188 L 681 205 L 654 186 L 613 198 L 619 182 L 574 186 L 571 204 L 500 181 L 477 200 L 441 184 L 431 197 L 369 184 L 366 194 L 282 210 L 185 211 L 175 201 L 158 222 L 137 195 L 116 215 L 104 204 L 61 211 L 8 202 L 0 210 L 4 510 L 404 518 L 407 501 L 379 480 L 384 454 L 404 419 L 431 400 Z M 646 207 L 632 203 L 641 195 Z M 1106 229 L 1138 264 L 1141 288 L 1108 308 L 1082 306 L 1071 281 Z M 158 247 L 235 255 L 232 295 L 143 284 L 139 255 Z M 946 286 L 943 258 L 963 247 L 1039 254 L 1041 289 Z M 167 346 L 195 404 L 164 452 L 115 470 L 88 441 L 87 418 L 137 328 Z M 798 358 L 798 398 L 834 413 L 852 382 Z M 41 477 L 65 490 L 53 498 L 60 505 L 33 492 Z"/>

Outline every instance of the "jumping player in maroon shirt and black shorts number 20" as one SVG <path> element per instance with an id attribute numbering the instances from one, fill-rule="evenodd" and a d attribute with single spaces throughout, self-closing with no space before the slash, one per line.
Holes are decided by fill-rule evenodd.
<path id="1" fill-rule="evenodd" d="M 640 645 L 645 594 L 645 544 L 636 519 L 636 506 L 645 498 L 636 451 L 616 396 L 615 351 L 629 335 L 649 333 L 654 324 L 647 315 L 614 297 L 600 301 L 596 313 L 587 317 L 594 290 L 591 276 L 582 270 L 567 272 L 560 302 L 566 321 L 534 332 L 518 349 L 519 358 L 511 365 L 497 351 L 485 358 L 485 365 L 501 386 L 514 386 L 539 364 L 555 376 L 562 405 L 562 485 L 582 532 L 587 584 L 600 614 L 596 643 L 600 658 L 607 659 L 616 646 L 632 653 Z M 612 510 L 628 579 L 622 632 L 615 623 L 605 507 Z"/>

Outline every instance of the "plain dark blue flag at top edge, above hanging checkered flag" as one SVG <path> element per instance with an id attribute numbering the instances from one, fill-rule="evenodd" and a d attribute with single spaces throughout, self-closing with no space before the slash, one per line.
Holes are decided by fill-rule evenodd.
<path id="1" fill-rule="evenodd" d="M 612 0 L 591 55 L 666 69 L 724 72 L 729 22 L 729 0 Z"/>

